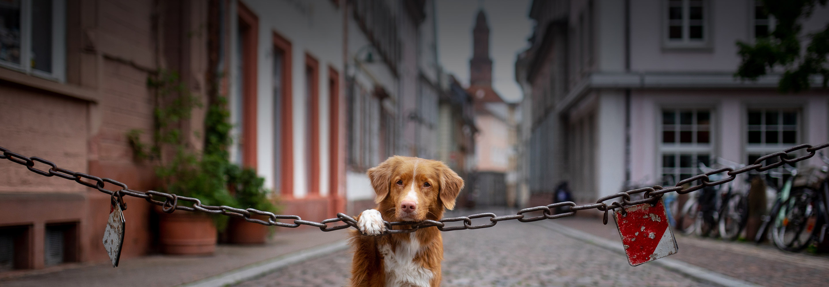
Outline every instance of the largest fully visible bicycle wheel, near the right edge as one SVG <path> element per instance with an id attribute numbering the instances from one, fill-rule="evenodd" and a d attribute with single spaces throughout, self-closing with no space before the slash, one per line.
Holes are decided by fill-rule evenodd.
<path id="1" fill-rule="evenodd" d="M 812 243 L 812 231 L 817 222 L 814 196 L 812 189 L 792 191 L 792 196 L 782 204 L 775 218 L 772 218 L 774 246 L 783 251 L 797 252 Z"/>

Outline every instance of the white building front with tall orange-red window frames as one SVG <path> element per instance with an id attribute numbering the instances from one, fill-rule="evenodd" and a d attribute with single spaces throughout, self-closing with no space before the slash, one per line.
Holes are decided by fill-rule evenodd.
<path id="1" fill-rule="evenodd" d="M 230 1 L 231 160 L 255 167 L 283 213 L 344 211 L 345 12 L 336 1 Z"/>

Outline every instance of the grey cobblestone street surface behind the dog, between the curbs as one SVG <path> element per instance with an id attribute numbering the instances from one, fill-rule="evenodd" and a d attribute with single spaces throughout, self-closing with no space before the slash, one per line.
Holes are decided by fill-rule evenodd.
<path id="1" fill-rule="evenodd" d="M 710 286 L 532 223 L 443 234 L 443 286 Z M 350 264 L 333 253 L 237 286 L 345 285 Z"/>

